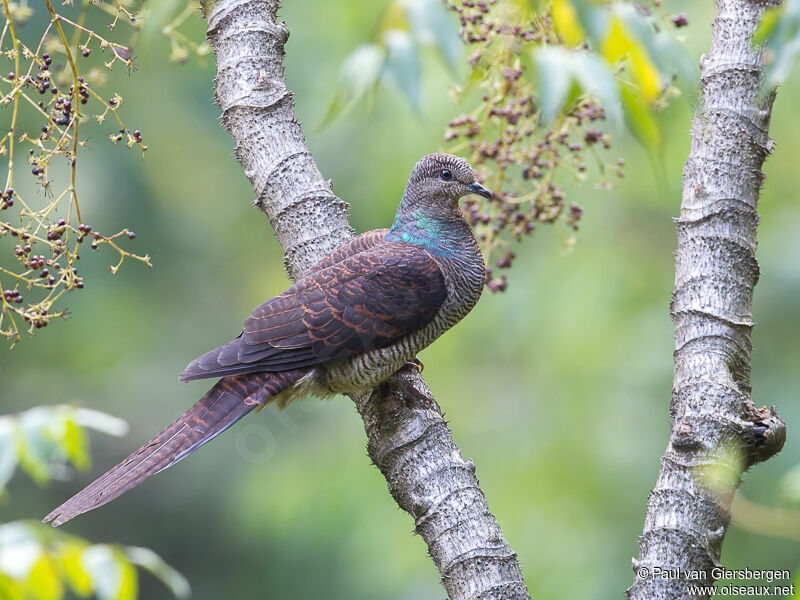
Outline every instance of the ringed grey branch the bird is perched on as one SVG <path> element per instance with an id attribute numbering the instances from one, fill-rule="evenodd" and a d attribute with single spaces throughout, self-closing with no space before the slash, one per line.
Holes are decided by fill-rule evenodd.
<path id="1" fill-rule="evenodd" d="M 206 0 L 217 61 L 216 98 L 283 246 L 293 279 L 349 239 L 348 204 L 338 198 L 306 147 L 283 75 L 289 32 L 278 0 Z M 422 401 L 420 401 L 422 399 Z M 403 370 L 380 388 L 352 396 L 370 458 L 397 504 L 415 520 L 452 600 L 530 599 L 516 554 L 453 441 L 422 377 Z"/>

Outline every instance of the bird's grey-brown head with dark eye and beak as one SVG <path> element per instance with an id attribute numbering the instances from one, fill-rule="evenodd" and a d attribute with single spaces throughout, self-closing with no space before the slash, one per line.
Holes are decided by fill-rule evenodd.
<path id="1" fill-rule="evenodd" d="M 406 195 L 429 202 L 455 205 L 467 194 L 491 198 L 492 194 L 475 180 L 475 171 L 467 161 L 452 154 L 428 154 L 411 171 Z"/>

